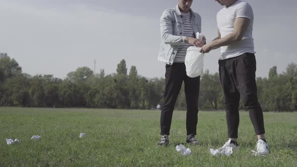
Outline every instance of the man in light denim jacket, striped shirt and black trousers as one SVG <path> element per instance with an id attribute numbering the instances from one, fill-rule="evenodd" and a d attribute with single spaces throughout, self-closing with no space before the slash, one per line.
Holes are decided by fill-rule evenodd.
<path id="1" fill-rule="evenodd" d="M 206 40 L 196 39 L 196 33 L 201 33 L 201 17 L 190 9 L 192 2 L 193 0 L 179 0 L 176 8 L 164 11 L 160 21 L 162 44 L 158 60 L 166 63 L 166 85 L 161 112 L 162 137 L 159 145 L 169 144 L 172 114 L 183 81 L 187 103 L 186 142 L 198 144 L 195 135 L 200 77 L 187 76 L 184 62 L 187 48 L 202 47 Z"/>

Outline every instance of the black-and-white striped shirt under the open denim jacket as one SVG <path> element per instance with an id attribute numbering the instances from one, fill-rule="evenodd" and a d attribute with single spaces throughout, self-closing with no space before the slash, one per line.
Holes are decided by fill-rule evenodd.
<path id="1" fill-rule="evenodd" d="M 183 17 L 183 22 L 184 22 L 184 35 L 183 36 L 187 36 L 187 37 L 193 37 L 195 38 L 195 34 L 194 34 L 194 30 L 192 27 L 192 16 L 191 13 L 182 13 Z M 186 52 L 188 47 L 190 47 L 191 45 L 188 43 L 184 43 L 181 44 L 178 48 L 178 51 L 176 53 L 176 56 L 174 58 L 173 62 L 185 62 L 185 57 L 186 57 Z"/>

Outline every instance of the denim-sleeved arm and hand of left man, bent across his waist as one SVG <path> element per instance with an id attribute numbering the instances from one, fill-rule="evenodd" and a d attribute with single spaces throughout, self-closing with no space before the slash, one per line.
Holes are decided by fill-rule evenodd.
<path id="1" fill-rule="evenodd" d="M 186 37 L 186 36 L 176 36 L 172 35 L 172 21 L 170 19 L 170 15 L 167 11 L 165 11 L 160 19 L 160 27 L 161 27 L 161 37 L 162 41 L 165 44 L 171 44 L 171 45 L 180 45 L 182 43 L 189 43 L 193 46 L 202 46 L 201 40 L 198 40 L 193 37 Z"/>

